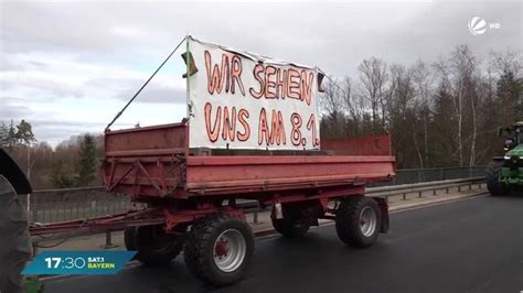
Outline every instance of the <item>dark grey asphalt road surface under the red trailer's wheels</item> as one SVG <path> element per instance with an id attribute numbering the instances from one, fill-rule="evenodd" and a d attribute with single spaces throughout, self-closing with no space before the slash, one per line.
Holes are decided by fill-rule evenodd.
<path id="1" fill-rule="evenodd" d="M 334 227 L 301 240 L 260 239 L 248 276 L 214 292 L 523 292 L 523 196 L 479 196 L 395 213 L 372 248 L 345 247 Z M 44 292 L 206 292 L 179 257 L 114 276 L 45 283 Z"/>

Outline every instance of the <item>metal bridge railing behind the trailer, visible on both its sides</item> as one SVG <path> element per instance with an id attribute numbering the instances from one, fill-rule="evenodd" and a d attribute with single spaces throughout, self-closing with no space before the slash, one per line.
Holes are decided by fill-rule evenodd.
<path id="1" fill-rule="evenodd" d="M 482 180 L 478 177 L 483 176 L 484 170 L 485 166 L 398 170 L 394 181 L 380 185 L 373 184 L 367 188 L 367 193 L 372 195 L 381 191 L 378 195 L 386 197 L 402 195 L 406 199 L 406 193 L 402 192 L 405 188 L 410 193 L 412 188 L 442 186 L 441 182 L 444 184 L 461 182 L 448 181 L 456 178 L 471 178 L 473 180 L 471 182 L 478 183 Z M 423 182 L 428 183 L 423 184 Z M 467 184 L 469 181 L 462 182 Z M 26 196 L 21 195 L 20 199 L 26 208 Z M 35 191 L 31 194 L 28 214 L 32 223 L 55 223 L 124 213 L 142 207 L 145 207 L 142 204 L 131 203 L 127 195 L 107 193 L 104 187 L 96 186 Z"/>

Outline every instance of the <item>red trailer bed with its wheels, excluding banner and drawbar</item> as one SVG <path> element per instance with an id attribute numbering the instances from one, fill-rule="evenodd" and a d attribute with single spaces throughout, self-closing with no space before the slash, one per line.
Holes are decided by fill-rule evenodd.
<path id="1" fill-rule="evenodd" d="M 203 281 L 238 281 L 254 252 L 239 199 L 273 206 L 274 228 L 285 237 L 303 236 L 318 219 L 335 220 L 338 236 L 352 247 L 372 246 L 387 231 L 387 203 L 364 194 L 366 183 L 394 176 L 388 135 L 323 141 L 328 151 L 243 154 L 189 149 L 188 128 L 106 132 L 107 189 L 149 207 L 126 230 L 138 260 L 168 263 L 183 249 Z"/>

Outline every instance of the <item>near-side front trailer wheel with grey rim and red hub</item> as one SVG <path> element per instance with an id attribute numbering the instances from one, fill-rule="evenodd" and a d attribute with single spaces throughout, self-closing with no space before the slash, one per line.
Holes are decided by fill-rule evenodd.
<path id="1" fill-rule="evenodd" d="M 239 281 L 249 268 L 253 253 L 250 227 L 227 215 L 209 216 L 194 223 L 183 247 L 191 273 L 216 286 Z"/>

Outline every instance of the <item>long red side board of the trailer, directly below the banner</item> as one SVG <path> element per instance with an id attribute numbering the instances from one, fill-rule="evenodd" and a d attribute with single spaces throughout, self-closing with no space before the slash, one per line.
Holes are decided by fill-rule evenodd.
<path id="1" fill-rule="evenodd" d="M 238 188 L 303 188 L 394 176 L 393 156 L 190 156 L 185 188 L 217 193 Z"/>

